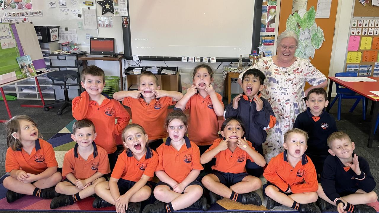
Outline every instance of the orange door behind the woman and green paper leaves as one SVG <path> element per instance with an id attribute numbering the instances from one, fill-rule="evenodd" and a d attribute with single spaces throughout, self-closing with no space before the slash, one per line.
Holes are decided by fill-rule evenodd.
<path id="1" fill-rule="evenodd" d="M 309 10 L 311 6 L 314 6 L 317 11 L 316 5 L 317 5 L 317 0 L 308 0 L 307 10 Z M 317 26 L 319 26 L 324 31 L 325 41 L 323 42 L 323 45 L 321 45 L 321 48 L 316 50 L 315 57 L 311 59 L 311 63 L 317 69 L 319 69 L 325 76 L 329 75 L 330 56 L 332 55 L 334 26 L 335 26 L 335 18 L 337 15 L 337 6 L 338 6 L 338 0 L 333 0 L 330 5 L 329 19 L 316 18 Z M 280 1 L 279 33 L 278 34 L 285 31 L 287 18 L 291 14 L 291 11 L 292 11 L 292 0 Z"/>

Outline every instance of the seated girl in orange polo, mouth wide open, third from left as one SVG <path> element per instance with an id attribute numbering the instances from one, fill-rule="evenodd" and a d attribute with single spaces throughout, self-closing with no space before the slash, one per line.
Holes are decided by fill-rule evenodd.
<path id="1" fill-rule="evenodd" d="M 140 213 L 141 202 L 151 196 L 158 154 L 146 146 L 148 136 L 138 124 L 129 124 L 122 131 L 125 146 L 112 172 L 109 182 L 96 185 L 94 208 L 116 205 L 116 212 Z"/>

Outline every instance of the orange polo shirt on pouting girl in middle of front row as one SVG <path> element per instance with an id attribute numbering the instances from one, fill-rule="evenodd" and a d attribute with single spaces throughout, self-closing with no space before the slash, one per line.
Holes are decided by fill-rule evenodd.
<path id="1" fill-rule="evenodd" d="M 186 136 L 184 136 L 184 139 L 185 144 L 183 144 L 179 151 L 171 146 L 170 137 L 166 139 L 166 143 L 161 144 L 157 148 L 159 162 L 156 171 L 163 170 L 177 183 L 182 183 L 193 169 L 204 169 L 200 164 L 199 147 L 192 141 L 189 141 Z"/>

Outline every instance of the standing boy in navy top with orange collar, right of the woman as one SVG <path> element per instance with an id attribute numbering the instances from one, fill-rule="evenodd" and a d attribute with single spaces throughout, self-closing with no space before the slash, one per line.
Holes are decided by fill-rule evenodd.
<path id="1" fill-rule="evenodd" d="M 308 132 L 308 149 L 305 154 L 315 164 L 318 175 L 323 171 L 323 164 L 329 155 L 326 140 L 328 136 L 337 132 L 334 117 L 324 108 L 328 105 L 326 91 L 323 88 L 311 89 L 307 94 L 307 110 L 296 117 L 293 128 Z"/>

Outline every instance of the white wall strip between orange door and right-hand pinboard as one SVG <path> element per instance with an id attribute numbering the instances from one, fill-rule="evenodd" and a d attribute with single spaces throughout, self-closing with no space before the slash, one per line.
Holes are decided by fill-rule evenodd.
<path id="1" fill-rule="evenodd" d="M 333 38 L 332 55 L 330 57 L 329 76 L 334 76 L 337 72 L 344 72 L 343 69 L 345 67 L 346 50 L 350 35 L 349 28 L 353 4 L 353 0 L 338 1 L 337 17 L 335 20 L 335 34 Z M 335 85 L 333 85 L 332 97 L 335 95 Z"/>

